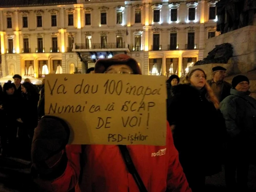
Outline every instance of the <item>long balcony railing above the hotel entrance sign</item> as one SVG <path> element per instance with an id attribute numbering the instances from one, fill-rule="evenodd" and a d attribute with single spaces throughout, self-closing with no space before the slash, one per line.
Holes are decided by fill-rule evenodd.
<path id="1" fill-rule="evenodd" d="M 125 47 L 125 42 L 123 44 L 117 44 L 117 43 L 106 43 L 106 44 L 100 44 L 100 43 L 93 43 L 91 46 L 88 44 L 75 44 L 75 49 L 122 49 Z"/>

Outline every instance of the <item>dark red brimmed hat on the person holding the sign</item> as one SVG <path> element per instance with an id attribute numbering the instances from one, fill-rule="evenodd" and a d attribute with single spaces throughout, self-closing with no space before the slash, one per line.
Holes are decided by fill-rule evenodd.
<path id="1" fill-rule="evenodd" d="M 133 74 L 142 75 L 140 67 L 135 59 L 127 54 L 117 54 L 111 59 L 98 59 L 95 63 L 95 73 L 104 73 L 111 65 L 125 64 L 131 67 Z"/>

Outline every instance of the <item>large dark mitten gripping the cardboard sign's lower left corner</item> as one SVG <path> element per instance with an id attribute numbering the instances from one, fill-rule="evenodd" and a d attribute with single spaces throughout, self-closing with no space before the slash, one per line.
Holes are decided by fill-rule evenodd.
<path id="1" fill-rule="evenodd" d="M 31 149 L 31 173 L 47 180 L 64 173 L 67 165 L 64 149 L 69 133 L 67 123 L 61 118 L 44 116 L 38 122 Z"/>

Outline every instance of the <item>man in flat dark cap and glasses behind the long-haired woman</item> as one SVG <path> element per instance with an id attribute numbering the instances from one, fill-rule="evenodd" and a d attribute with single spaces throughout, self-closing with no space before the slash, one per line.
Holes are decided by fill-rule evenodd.
<path id="1" fill-rule="evenodd" d="M 212 79 L 207 82 L 210 84 L 219 102 L 230 95 L 231 84 L 224 81 L 226 70 L 224 67 L 217 66 L 212 68 Z"/>

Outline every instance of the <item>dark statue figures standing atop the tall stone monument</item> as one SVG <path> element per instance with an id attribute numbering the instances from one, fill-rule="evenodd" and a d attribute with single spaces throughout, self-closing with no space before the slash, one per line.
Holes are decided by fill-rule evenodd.
<path id="1" fill-rule="evenodd" d="M 256 0 L 220 0 L 217 7 L 217 31 L 227 33 L 252 25 Z"/>

